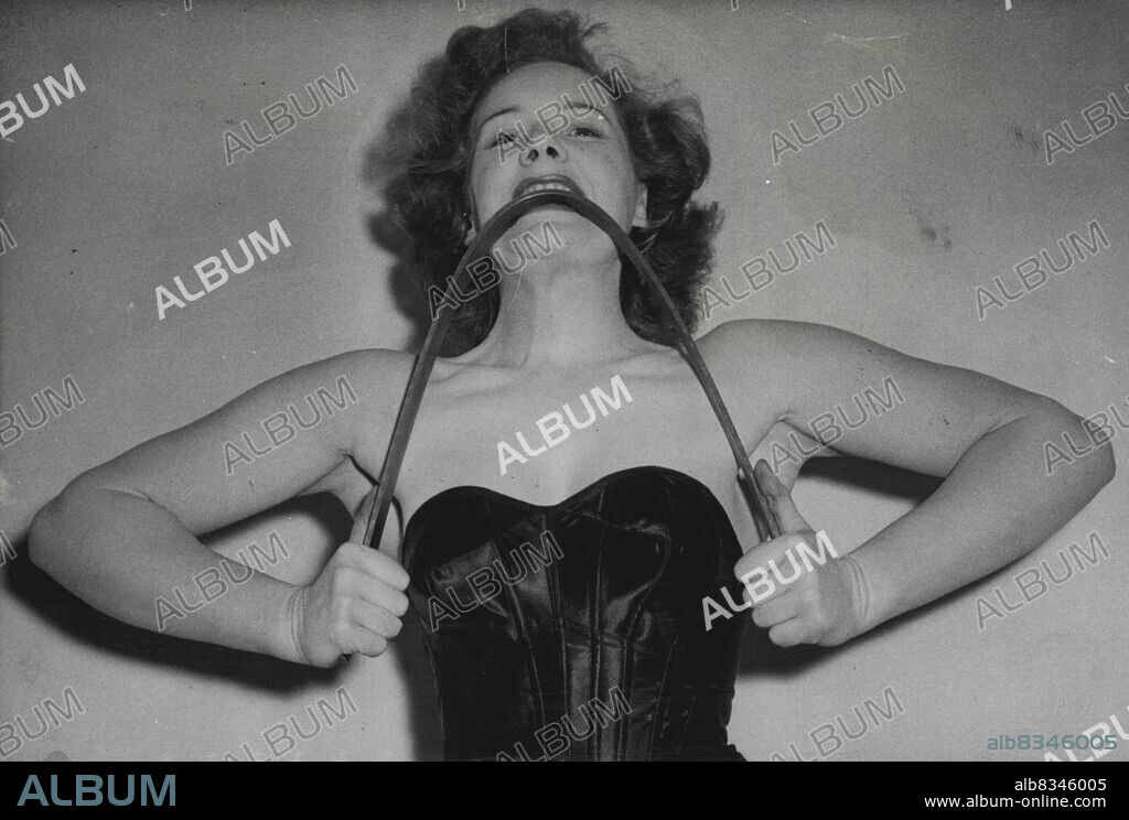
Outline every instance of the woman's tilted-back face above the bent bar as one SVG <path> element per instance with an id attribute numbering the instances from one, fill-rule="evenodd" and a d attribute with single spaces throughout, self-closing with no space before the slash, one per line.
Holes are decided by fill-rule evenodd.
<path id="1" fill-rule="evenodd" d="M 580 69 L 534 63 L 498 80 L 482 98 L 471 120 L 469 196 L 475 228 L 516 199 L 524 180 L 544 176 L 568 177 L 624 231 L 647 224 L 647 189 L 636 177 L 627 134 L 610 95 L 592 86 Z M 587 222 L 563 206 L 545 210 Z"/>

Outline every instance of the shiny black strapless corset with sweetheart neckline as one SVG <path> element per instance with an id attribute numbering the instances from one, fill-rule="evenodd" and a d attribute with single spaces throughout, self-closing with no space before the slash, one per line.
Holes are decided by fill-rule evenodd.
<path id="1" fill-rule="evenodd" d="M 448 759 L 743 759 L 728 744 L 747 612 L 741 545 L 701 482 L 604 476 L 542 506 L 460 486 L 408 522 L 404 566 Z"/>

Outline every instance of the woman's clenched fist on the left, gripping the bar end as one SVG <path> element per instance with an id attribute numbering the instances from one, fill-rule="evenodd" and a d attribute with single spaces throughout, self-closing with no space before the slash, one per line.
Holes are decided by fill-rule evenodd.
<path id="1" fill-rule="evenodd" d="M 394 558 L 364 544 L 342 544 L 317 580 L 290 596 L 290 635 L 298 658 L 332 667 L 342 655 L 382 654 L 403 626 L 408 582 L 408 572 Z"/>

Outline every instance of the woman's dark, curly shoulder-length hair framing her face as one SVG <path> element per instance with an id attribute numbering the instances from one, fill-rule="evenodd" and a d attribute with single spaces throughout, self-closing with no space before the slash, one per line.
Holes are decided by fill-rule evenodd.
<path id="1" fill-rule="evenodd" d="M 495 26 L 464 26 L 447 42 L 412 87 L 408 107 L 410 149 L 406 175 L 387 192 L 396 223 L 411 239 L 414 267 L 425 293 L 445 290 L 465 252 L 471 227 L 465 213 L 471 159 L 470 124 L 479 102 L 493 83 L 522 65 L 557 62 L 599 77 L 614 88 L 586 42 L 604 28 L 571 11 L 525 9 Z M 638 87 L 630 67 L 630 92 L 614 98 L 628 136 L 636 176 L 647 186 L 649 226 L 632 228 L 630 238 L 669 292 L 682 320 L 693 330 L 697 300 L 712 262 L 711 239 L 720 227 L 717 203 L 691 201 L 709 173 L 709 147 L 698 100 L 679 94 L 662 98 Z M 673 345 L 674 323 L 662 302 L 621 256 L 620 303 L 628 325 L 645 340 Z M 464 303 L 454 317 L 448 355 L 480 344 L 499 311 L 491 289 Z"/>

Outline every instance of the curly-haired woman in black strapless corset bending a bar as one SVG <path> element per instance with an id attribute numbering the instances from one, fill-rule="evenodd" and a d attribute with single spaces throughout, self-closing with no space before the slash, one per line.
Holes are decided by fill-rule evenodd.
<path id="1" fill-rule="evenodd" d="M 690 201 L 709 167 L 697 107 L 616 83 L 585 46 L 593 30 L 530 10 L 457 32 L 413 96 L 394 211 L 445 291 L 500 208 L 563 186 L 631 231 L 692 327 L 718 221 Z M 758 464 L 782 531 L 758 544 L 658 303 L 571 209 L 526 213 L 496 253 L 513 257 L 530 235 L 558 241 L 455 300 L 457 354 L 431 377 L 396 485 L 400 526 L 379 549 L 355 535 L 304 588 L 255 572 L 163 631 L 330 667 L 383 653 L 410 594 L 448 757 L 739 759 L 725 726 L 744 609 L 778 645 L 841 644 L 1035 548 L 1112 478 L 1110 448 L 1045 475 L 1043 442 L 1084 433 L 1047 397 L 830 327 L 728 323 L 699 346 L 754 459 L 773 433 L 825 434 L 811 420 L 891 386 L 898 412 L 824 443 L 945 477 L 849 556 L 800 571 L 794 556 L 816 537 L 789 497 L 797 467 L 781 482 Z M 227 562 L 196 535 L 305 493 L 359 511 L 410 368 L 377 350 L 308 364 L 85 473 L 33 522 L 33 559 L 96 608 L 157 628 L 159 597 Z M 220 466 L 222 442 L 333 386 L 356 405 Z M 763 567 L 789 562 L 795 575 L 764 583 Z M 759 579 L 743 598 L 742 577 Z"/>

